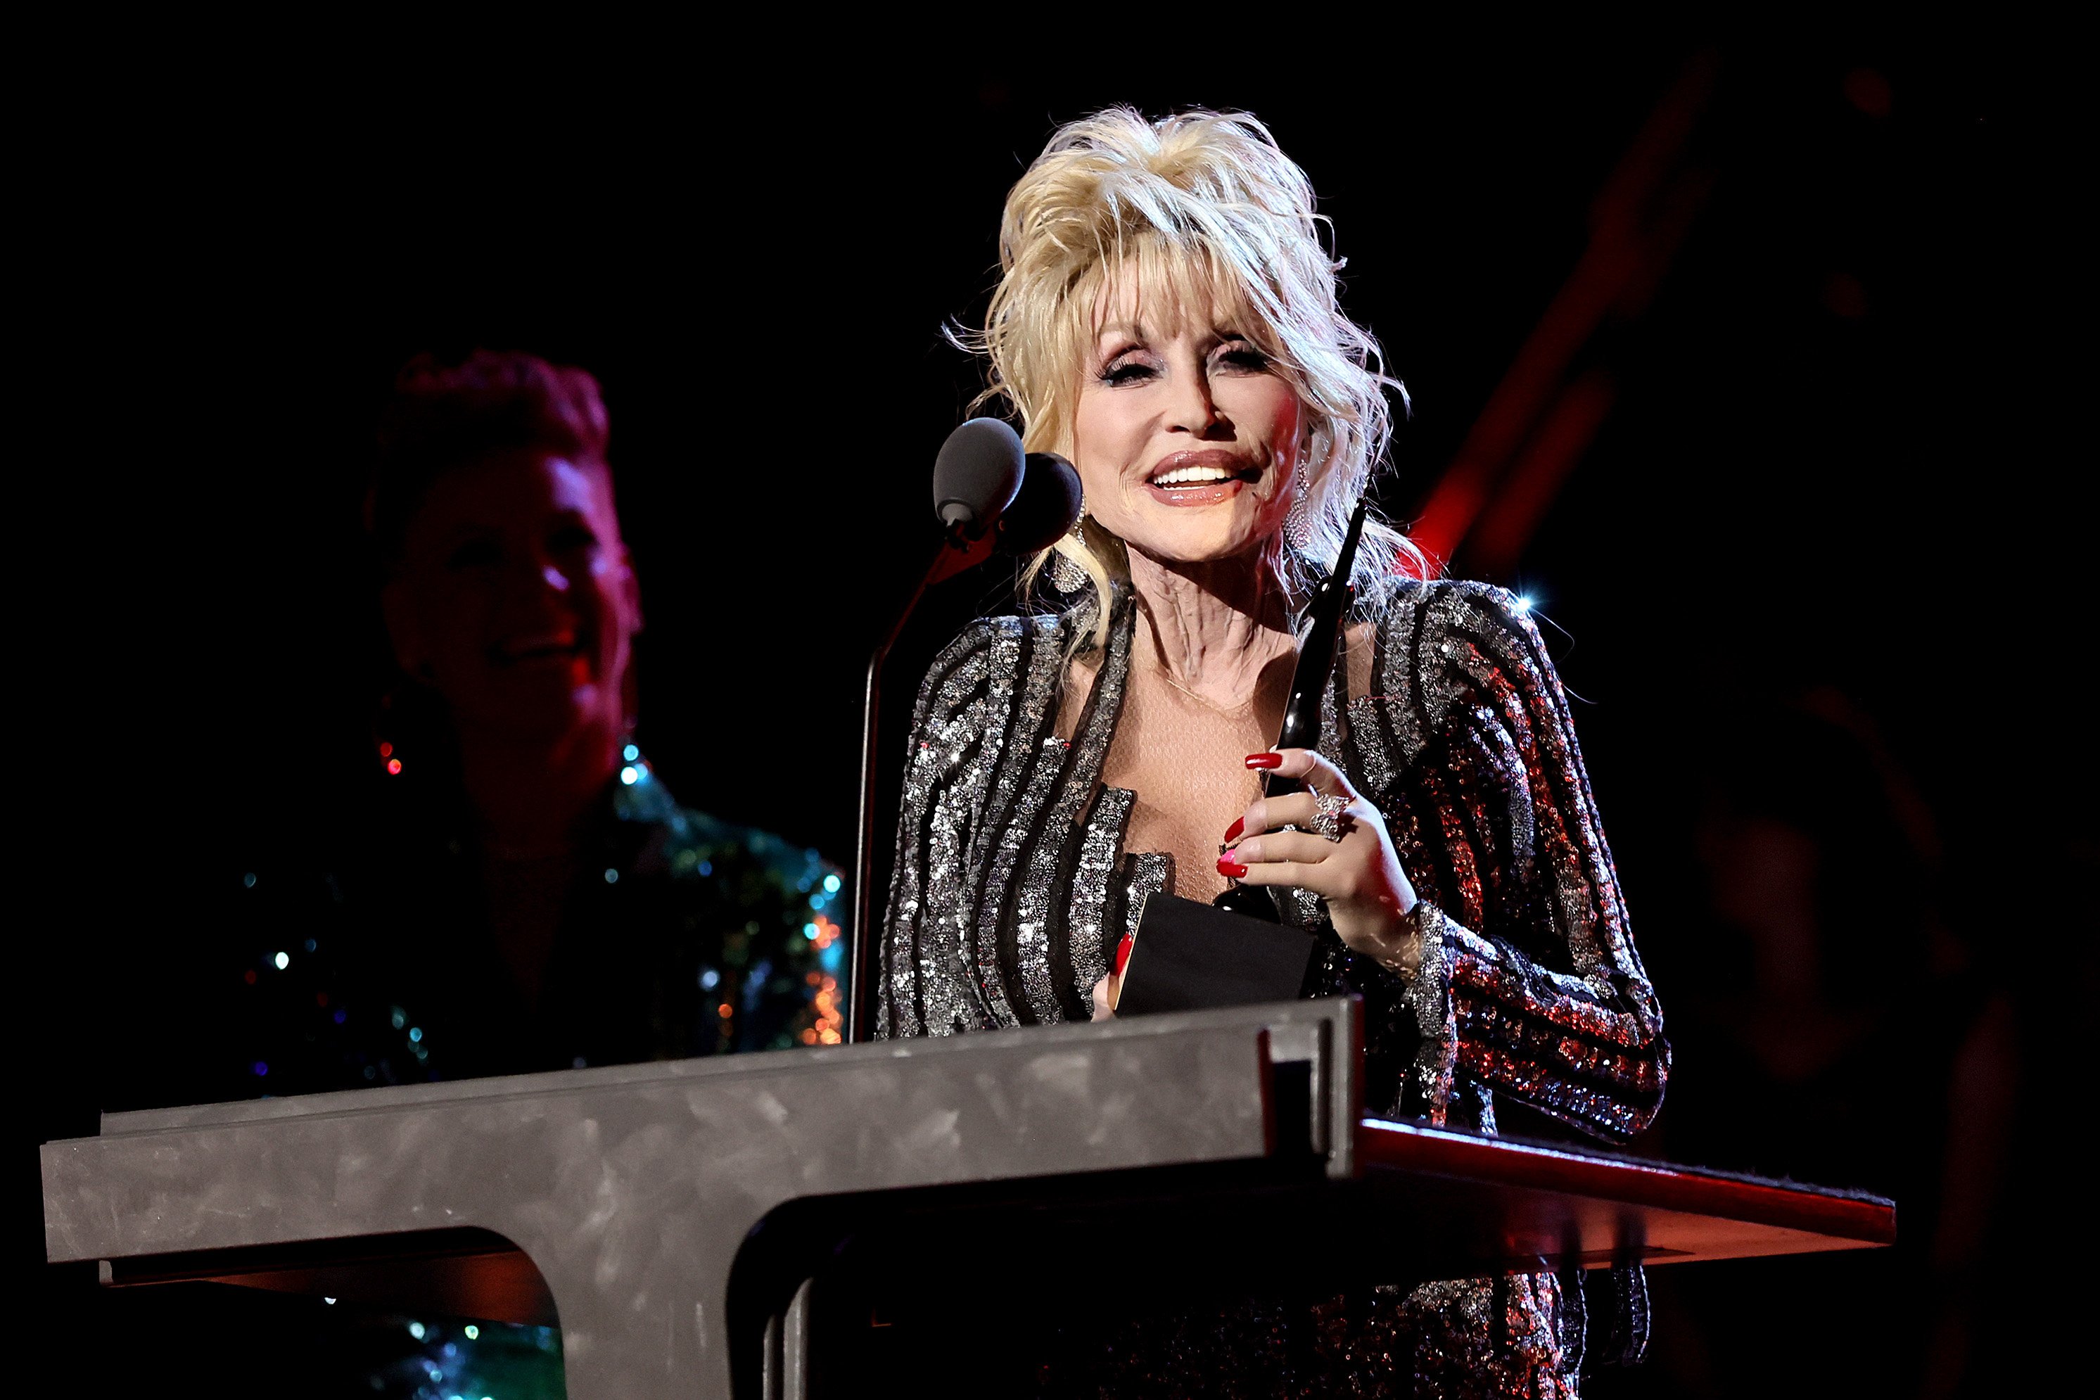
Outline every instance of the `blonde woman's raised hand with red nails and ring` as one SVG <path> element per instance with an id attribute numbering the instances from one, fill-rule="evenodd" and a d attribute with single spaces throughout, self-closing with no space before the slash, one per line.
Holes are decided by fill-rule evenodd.
<path id="1" fill-rule="evenodd" d="M 1298 779 L 1308 791 L 1250 806 L 1224 833 L 1228 850 L 1218 858 L 1218 873 L 1250 886 L 1319 894 L 1342 942 L 1401 976 L 1413 976 L 1422 966 L 1422 938 L 1407 917 L 1415 907 L 1415 888 L 1392 850 L 1384 814 L 1312 749 L 1250 754 L 1247 766 Z M 1338 840 L 1315 831 L 1321 798 L 1342 802 Z"/>

